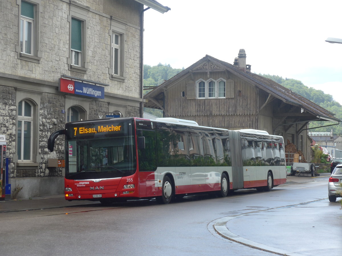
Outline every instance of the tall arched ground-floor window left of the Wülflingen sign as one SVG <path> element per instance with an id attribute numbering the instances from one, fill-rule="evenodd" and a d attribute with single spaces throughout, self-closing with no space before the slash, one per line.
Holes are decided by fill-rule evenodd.
<path id="1" fill-rule="evenodd" d="M 34 106 L 28 100 L 18 103 L 18 161 L 32 161 L 32 130 Z"/>

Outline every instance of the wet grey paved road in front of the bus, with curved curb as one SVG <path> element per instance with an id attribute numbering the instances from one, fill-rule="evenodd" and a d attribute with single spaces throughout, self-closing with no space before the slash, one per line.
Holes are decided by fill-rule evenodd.
<path id="1" fill-rule="evenodd" d="M 239 190 L 169 205 L 103 207 L 61 196 L 1 202 L 0 254 L 340 255 L 331 233 L 342 233 L 342 211 L 327 199 L 327 179 L 290 176 L 270 193 Z"/>

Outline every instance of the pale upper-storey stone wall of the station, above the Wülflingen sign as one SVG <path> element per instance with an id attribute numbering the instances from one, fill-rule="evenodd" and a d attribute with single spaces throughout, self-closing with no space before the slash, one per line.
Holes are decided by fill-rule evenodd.
<path id="1" fill-rule="evenodd" d="M 87 11 L 87 56 L 88 70 L 86 74 L 70 71 L 67 59 L 70 58 L 70 13 L 69 2 L 62 0 L 41 1 L 39 19 L 39 48 L 42 52 L 40 63 L 18 59 L 16 45 L 18 45 L 18 5 L 16 1 L 3 0 L 0 8 L 0 72 L 18 76 L 30 77 L 49 82 L 57 82 L 62 74 L 81 77 L 83 79 L 99 81 L 109 84 L 106 93 L 120 94 L 130 97 L 140 97 L 140 27 L 129 21 L 124 22 L 114 14 L 101 13 L 104 4 L 112 5 L 112 9 L 121 13 L 119 8 L 130 8 L 129 16 L 139 21 L 140 11 L 134 3 L 134 8 L 123 1 L 75 1 L 81 5 L 90 4 L 96 8 Z M 102 5 L 102 6 L 101 6 Z M 138 4 L 140 5 L 140 4 Z M 108 10 L 106 10 L 107 12 Z M 127 14 L 127 13 L 126 13 Z M 110 78 L 111 43 L 109 29 L 112 20 L 123 23 L 125 31 L 124 82 Z M 136 23 L 136 22 L 134 22 Z"/>

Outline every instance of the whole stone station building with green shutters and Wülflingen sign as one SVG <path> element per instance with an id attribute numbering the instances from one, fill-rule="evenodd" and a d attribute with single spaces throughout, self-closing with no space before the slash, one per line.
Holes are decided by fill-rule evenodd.
<path id="1" fill-rule="evenodd" d="M 12 192 L 63 193 L 64 140 L 49 153 L 47 139 L 69 121 L 142 116 L 144 12 L 170 8 L 154 0 L 0 4 L 0 134 Z"/>

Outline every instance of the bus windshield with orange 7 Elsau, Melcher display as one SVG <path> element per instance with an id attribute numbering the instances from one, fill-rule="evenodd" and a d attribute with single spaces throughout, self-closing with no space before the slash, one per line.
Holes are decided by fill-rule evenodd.
<path id="1" fill-rule="evenodd" d="M 132 131 L 129 121 L 70 124 L 66 134 L 66 179 L 109 179 L 135 173 L 136 150 Z"/>

